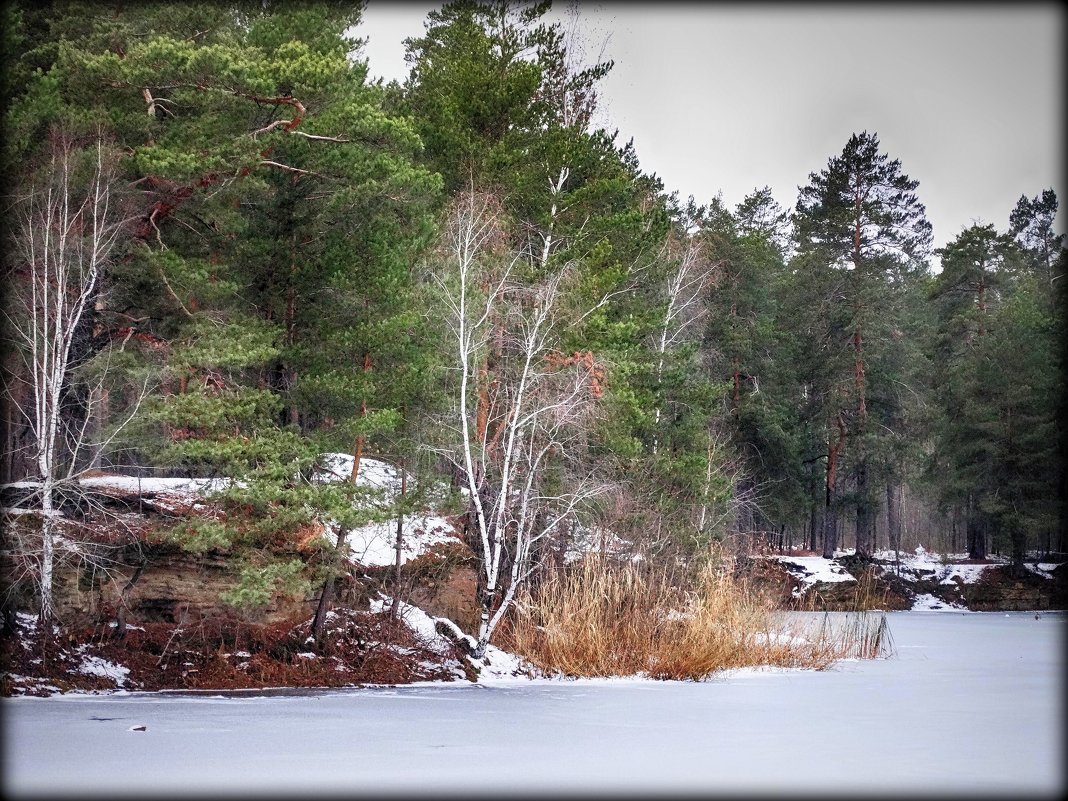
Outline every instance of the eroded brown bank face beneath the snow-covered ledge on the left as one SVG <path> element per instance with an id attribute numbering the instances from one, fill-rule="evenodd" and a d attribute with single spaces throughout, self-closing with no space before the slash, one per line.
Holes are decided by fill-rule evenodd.
<path id="1" fill-rule="evenodd" d="M 151 498 L 131 501 L 125 496 L 105 500 L 112 504 L 153 501 Z M 159 515 L 153 511 L 145 514 L 138 509 L 122 518 L 121 531 L 93 529 L 91 523 L 69 523 L 76 527 L 64 532 L 70 535 L 69 541 L 78 543 L 77 548 L 91 547 L 94 556 L 82 559 L 84 554 L 68 545 L 63 556 L 58 559 L 53 604 L 59 621 L 64 625 L 89 627 L 109 622 L 113 625 L 190 625 L 236 615 L 241 622 L 273 625 L 304 621 L 315 613 L 323 587 L 321 556 L 319 549 L 314 547 L 320 531 L 312 532 L 310 537 L 295 537 L 298 545 L 293 552 L 272 554 L 282 561 L 297 559 L 303 562 L 301 578 L 309 587 L 308 594 L 278 592 L 265 607 L 238 613 L 223 601 L 223 595 L 239 584 L 239 560 L 223 551 L 183 550 L 158 535 L 155 530 L 158 519 Z M 28 541 L 40 537 L 29 516 L 21 518 L 19 524 L 25 528 L 20 534 L 29 538 Z M 35 591 L 29 581 L 14 581 L 20 569 L 9 555 L 0 550 L 0 592 L 6 593 L 14 587 L 9 595 L 10 608 L 35 611 Z M 478 619 L 475 562 L 474 554 L 462 543 L 438 543 L 404 564 L 400 596 L 431 615 L 447 617 L 465 630 L 474 630 Z M 335 579 L 334 604 L 367 609 L 379 593 L 392 594 L 393 583 L 391 565 L 363 567 L 346 562 Z"/>

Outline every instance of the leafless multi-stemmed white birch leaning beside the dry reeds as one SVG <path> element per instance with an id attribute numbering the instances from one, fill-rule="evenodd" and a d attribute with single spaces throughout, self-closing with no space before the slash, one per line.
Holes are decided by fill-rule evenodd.
<path id="1" fill-rule="evenodd" d="M 466 490 L 481 563 L 475 657 L 530 577 L 539 545 L 598 492 L 591 476 L 566 467 L 600 391 L 588 351 L 567 356 L 556 348 L 568 271 L 524 284 L 514 274 L 522 255 L 509 253 L 504 240 L 496 200 L 461 194 L 445 227 L 447 269 L 436 277 L 456 375 L 453 436 L 442 451 Z M 483 374 L 490 347 L 492 373 Z M 550 468 L 562 465 L 566 481 L 550 482 Z"/>

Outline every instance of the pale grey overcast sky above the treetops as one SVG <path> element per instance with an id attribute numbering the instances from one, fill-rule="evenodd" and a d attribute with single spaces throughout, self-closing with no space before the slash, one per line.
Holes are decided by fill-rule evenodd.
<path id="1" fill-rule="evenodd" d="M 407 76 L 403 40 L 438 3 L 370 0 L 371 75 Z M 580 2 L 588 60 L 615 66 L 601 116 L 669 191 L 786 208 L 850 135 L 920 182 L 936 246 L 1008 225 L 1021 194 L 1064 186 L 1065 13 L 1057 3 Z M 566 3 L 552 18 L 568 20 Z M 1062 208 L 1058 229 L 1068 213 Z"/>

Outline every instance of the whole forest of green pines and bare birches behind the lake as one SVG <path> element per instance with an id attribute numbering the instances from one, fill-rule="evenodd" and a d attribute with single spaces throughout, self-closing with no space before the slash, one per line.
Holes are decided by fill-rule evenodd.
<path id="1" fill-rule="evenodd" d="M 6 4 L 2 480 L 227 476 L 176 535 L 262 562 L 376 456 L 505 583 L 583 532 L 1068 549 L 1053 191 L 934 250 L 844 131 L 794 208 L 682 201 L 547 11 L 449 3 L 383 84 L 357 3 Z"/>

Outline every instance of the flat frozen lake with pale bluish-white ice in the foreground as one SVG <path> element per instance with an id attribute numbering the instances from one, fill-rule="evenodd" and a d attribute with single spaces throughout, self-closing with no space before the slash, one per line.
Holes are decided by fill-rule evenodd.
<path id="1" fill-rule="evenodd" d="M 1065 615 L 888 617 L 823 672 L 5 698 L 3 795 L 1063 796 Z"/>

